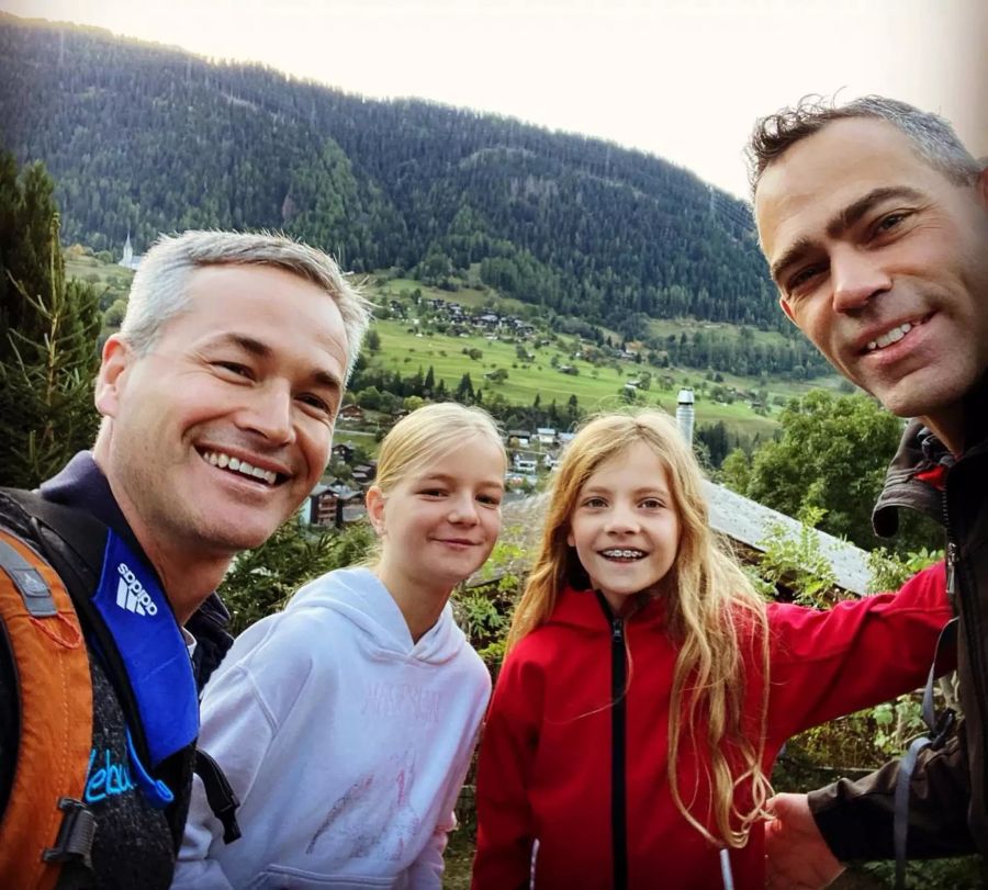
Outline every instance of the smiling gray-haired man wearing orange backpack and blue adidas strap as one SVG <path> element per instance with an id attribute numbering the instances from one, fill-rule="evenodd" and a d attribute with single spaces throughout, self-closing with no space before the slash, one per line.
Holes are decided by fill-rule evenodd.
<path id="1" fill-rule="evenodd" d="M 67 588 L 58 630 L 85 639 L 91 680 L 91 707 L 89 686 L 63 702 L 91 718 L 63 769 L 59 740 L 33 741 L 55 730 L 30 725 L 24 655 L 0 633 L 0 886 L 169 887 L 193 767 L 236 836 L 194 744 L 198 689 L 231 643 L 213 590 L 318 482 L 368 320 L 329 257 L 281 236 L 188 232 L 147 252 L 103 347 L 92 451 L 0 494 L 3 540 Z M 50 798 L 25 778 L 56 769 Z"/>

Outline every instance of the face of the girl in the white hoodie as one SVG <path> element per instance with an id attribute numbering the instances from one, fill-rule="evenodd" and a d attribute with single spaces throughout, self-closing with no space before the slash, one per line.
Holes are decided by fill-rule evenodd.
<path id="1" fill-rule="evenodd" d="M 436 589 L 448 596 L 481 565 L 501 532 L 504 452 L 468 432 L 452 451 L 413 466 L 391 491 L 367 494 L 381 537 L 378 575 L 393 594 Z"/>

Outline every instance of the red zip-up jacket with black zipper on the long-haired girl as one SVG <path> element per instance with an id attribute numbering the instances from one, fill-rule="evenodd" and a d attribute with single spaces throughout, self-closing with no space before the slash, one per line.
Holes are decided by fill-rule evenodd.
<path id="1" fill-rule="evenodd" d="M 663 613 L 654 600 L 624 622 L 592 592 L 564 589 L 505 660 L 481 743 L 473 890 L 527 888 L 536 840 L 538 890 L 722 886 L 718 850 L 683 818 L 666 781 L 676 649 Z M 920 686 L 950 617 L 942 563 L 897 596 L 829 611 L 770 605 L 765 769 L 790 735 Z M 754 729 L 760 671 L 748 661 Z M 681 795 L 695 795 L 691 812 L 704 814 L 709 789 L 681 737 Z M 737 890 L 762 890 L 761 825 L 730 858 Z"/>

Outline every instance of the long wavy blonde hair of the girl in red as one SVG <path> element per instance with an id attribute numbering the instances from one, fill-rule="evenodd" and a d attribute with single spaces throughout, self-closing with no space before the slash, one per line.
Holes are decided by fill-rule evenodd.
<path id="1" fill-rule="evenodd" d="M 507 649 L 549 618 L 568 582 L 585 576 L 575 550 L 566 543 L 580 491 L 604 461 L 636 442 L 645 442 L 665 465 L 681 528 L 676 560 L 658 590 L 678 645 L 669 718 L 670 788 L 676 807 L 705 837 L 740 847 L 772 793 L 762 767 L 768 699 L 765 604 L 711 533 L 703 473 L 667 415 L 656 410 L 603 415 L 570 442 L 552 484 L 538 555 L 515 610 Z M 743 713 L 749 677 L 741 654 L 742 646 L 752 644 L 762 663 L 756 671 L 761 690 L 753 740 L 752 718 Z M 701 818 L 691 812 L 680 790 L 676 765 L 684 735 L 696 751 L 709 752 L 703 778 L 711 788 L 711 812 Z M 743 811 L 736 803 L 738 790 L 751 800 Z"/>

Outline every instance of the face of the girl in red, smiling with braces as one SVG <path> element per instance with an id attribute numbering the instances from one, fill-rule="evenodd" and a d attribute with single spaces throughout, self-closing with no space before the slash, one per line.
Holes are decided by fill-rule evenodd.
<path id="1" fill-rule="evenodd" d="M 665 464 L 642 441 L 603 461 L 581 486 L 566 543 L 610 608 L 654 587 L 680 548 Z"/>

